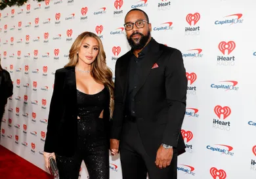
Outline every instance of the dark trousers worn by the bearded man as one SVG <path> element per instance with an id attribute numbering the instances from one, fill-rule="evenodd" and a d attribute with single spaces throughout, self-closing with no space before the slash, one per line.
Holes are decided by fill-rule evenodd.
<path id="1" fill-rule="evenodd" d="M 142 144 L 137 123 L 125 122 L 120 144 L 123 179 L 177 179 L 177 150 L 174 149 L 171 165 L 158 169 L 156 156 L 149 156 Z"/>

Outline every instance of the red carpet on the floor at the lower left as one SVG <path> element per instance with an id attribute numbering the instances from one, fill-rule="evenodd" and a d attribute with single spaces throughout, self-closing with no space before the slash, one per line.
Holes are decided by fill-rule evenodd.
<path id="1" fill-rule="evenodd" d="M 0 145 L 1 179 L 52 179 L 53 176 Z"/>

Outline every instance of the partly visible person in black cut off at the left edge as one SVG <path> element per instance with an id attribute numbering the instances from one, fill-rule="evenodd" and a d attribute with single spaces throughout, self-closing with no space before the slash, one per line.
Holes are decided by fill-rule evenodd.
<path id="1" fill-rule="evenodd" d="M 5 104 L 7 104 L 7 98 L 12 96 L 12 90 L 13 85 L 10 73 L 2 68 L 0 58 L 0 129 L 3 113 L 5 112 Z"/>

